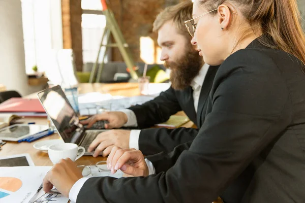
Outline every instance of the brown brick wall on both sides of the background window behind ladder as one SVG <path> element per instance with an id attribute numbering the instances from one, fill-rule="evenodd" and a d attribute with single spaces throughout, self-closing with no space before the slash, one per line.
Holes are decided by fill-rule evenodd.
<path id="1" fill-rule="evenodd" d="M 157 46 L 157 33 L 153 22 L 157 14 L 167 6 L 190 0 L 111 0 L 109 8 L 129 44 L 134 61 L 140 58 L 140 37 L 150 37 Z M 81 0 L 62 0 L 64 49 L 73 49 L 77 71 L 82 70 Z M 113 40 L 113 39 L 112 39 Z M 100 43 L 100 42 L 97 42 Z M 123 61 L 117 48 L 112 48 L 112 61 Z"/>

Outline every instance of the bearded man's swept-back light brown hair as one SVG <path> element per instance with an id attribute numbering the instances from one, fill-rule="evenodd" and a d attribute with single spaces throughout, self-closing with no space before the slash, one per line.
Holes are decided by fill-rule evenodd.
<path id="1" fill-rule="evenodd" d="M 158 30 L 168 21 L 172 20 L 177 31 L 181 35 L 191 38 L 189 32 L 184 24 L 184 21 L 192 19 L 193 3 L 191 1 L 182 2 L 175 6 L 165 8 L 161 13 L 158 14 L 155 22 L 153 31 Z"/>

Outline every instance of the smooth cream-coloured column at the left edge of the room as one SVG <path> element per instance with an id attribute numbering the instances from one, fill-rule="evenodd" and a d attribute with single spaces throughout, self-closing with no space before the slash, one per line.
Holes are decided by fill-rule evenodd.
<path id="1" fill-rule="evenodd" d="M 40 90 L 27 85 L 20 0 L 0 1 L 0 27 L 0 84 L 22 95 Z"/>

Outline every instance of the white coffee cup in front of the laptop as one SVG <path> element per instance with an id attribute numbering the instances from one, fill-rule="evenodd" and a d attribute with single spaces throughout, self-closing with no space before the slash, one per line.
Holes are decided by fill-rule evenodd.
<path id="1" fill-rule="evenodd" d="M 82 149 L 80 155 L 77 156 L 79 149 Z M 70 158 L 72 161 L 76 161 L 85 153 L 85 148 L 78 147 L 74 143 L 61 143 L 51 145 L 48 148 L 49 158 L 53 164 L 58 163 L 61 159 Z"/>

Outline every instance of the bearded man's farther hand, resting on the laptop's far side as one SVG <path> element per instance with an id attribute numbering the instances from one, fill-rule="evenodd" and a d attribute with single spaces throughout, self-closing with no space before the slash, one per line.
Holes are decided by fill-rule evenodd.
<path id="1" fill-rule="evenodd" d="M 120 128 L 125 123 L 127 123 L 128 118 L 127 115 L 120 111 L 112 111 L 112 112 L 105 112 L 102 114 L 97 114 L 88 118 L 85 121 L 80 121 L 81 124 L 86 125 L 88 124 L 87 128 L 90 128 L 95 122 L 100 120 L 107 120 L 109 123 L 105 124 L 106 129 L 112 128 Z"/>

